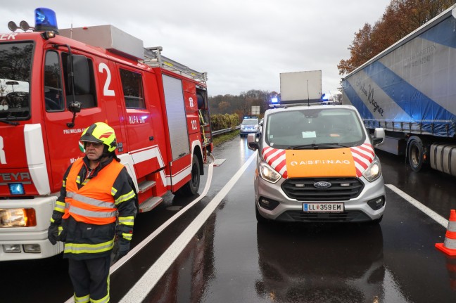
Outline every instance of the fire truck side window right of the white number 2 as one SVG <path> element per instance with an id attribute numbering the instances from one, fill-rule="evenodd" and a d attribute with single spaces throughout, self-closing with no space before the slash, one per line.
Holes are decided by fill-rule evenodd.
<path id="1" fill-rule="evenodd" d="M 129 70 L 120 70 L 120 80 L 126 108 L 146 108 L 141 74 Z"/>

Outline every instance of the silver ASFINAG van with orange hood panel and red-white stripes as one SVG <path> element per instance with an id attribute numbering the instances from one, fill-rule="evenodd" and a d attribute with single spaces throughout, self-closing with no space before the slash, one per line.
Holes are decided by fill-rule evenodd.
<path id="1" fill-rule="evenodd" d="M 379 223 L 386 196 L 371 137 L 351 105 L 299 105 L 266 110 L 258 150 L 255 212 L 259 222 Z"/>

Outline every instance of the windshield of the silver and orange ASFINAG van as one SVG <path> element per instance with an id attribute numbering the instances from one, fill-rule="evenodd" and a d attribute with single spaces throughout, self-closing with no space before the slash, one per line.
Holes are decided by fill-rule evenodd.
<path id="1" fill-rule="evenodd" d="M 265 140 L 274 148 L 350 147 L 365 139 L 356 112 L 348 108 L 291 109 L 267 117 Z"/>

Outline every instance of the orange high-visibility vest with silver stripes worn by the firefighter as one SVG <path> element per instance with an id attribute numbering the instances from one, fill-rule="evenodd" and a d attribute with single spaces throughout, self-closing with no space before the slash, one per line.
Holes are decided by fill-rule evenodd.
<path id="1" fill-rule="evenodd" d="M 76 160 L 68 173 L 63 219 L 71 215 L 76 221 L 88 224 L 103 225 L 115 222 L 117 208 L 112 191 L 114 181 L 123 165 L 117 161 L 110 162 L 96 177 L 78 188 L 77 176 L 82 165 L 82 159 Z"/>

